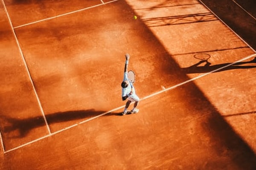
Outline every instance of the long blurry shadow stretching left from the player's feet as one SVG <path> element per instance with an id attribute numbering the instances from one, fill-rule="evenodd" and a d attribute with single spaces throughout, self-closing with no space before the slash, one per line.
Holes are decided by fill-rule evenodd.
<path id="1" fill-rule="evenodd" d="M 47 114 L 45 117 L 47 119 L 47 123 L 52 125 L 58 122 L 68 122 L 72 120 L 90 118 L 93 116 L 98 116 L 102 113 L 105 113 L 105 111 L 95 111 L 90 109 L 81 111 L 56 112 Z M 9 133 L 7 136 L 10 138 L 22 138 L 26 136 L 30 130 L 46 125 L 43 116 L 35 116 L 26 119 L 12 118 L 4 115 L 0 116 L 1 119 L 3 119 L 3 122 L 6 122 L 6 125 L 2 128 L 2 131 L 3 133 Z"/>

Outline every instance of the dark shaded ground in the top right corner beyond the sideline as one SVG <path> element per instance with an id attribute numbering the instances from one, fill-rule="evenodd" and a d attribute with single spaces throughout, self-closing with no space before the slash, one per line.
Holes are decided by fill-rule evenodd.
<path id="1" fill-rule="evenodd" d="M 253 0 L 201 0 L 218 17 L 256 50 L 256 2 Z M 249 14 L 250 15 L 249 15 Z"/>

